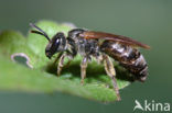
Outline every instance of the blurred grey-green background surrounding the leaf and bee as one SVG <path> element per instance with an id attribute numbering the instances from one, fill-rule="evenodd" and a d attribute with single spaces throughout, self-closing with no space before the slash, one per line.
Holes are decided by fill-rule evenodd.
<path id="1" fill-rule="evenodd" d="M 149 77 L 144 83 L 133 82 L 121 90 L 122 101 L 108 104 L 62 93 L 1 91 L 0 113 L 130 113 L 136 99 L 172 104 L 171 0 L 0 1 L 0 31 L 26 34 L 29 23 L 42 19 L 72 22 L 78 27 L 126 35 L 150 45 L 150 50 L 141 49 L 149 65 Z"/>

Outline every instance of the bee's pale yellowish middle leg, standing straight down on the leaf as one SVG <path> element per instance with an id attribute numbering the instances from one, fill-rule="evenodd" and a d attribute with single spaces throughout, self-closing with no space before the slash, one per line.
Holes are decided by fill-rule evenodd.
<path id="1" fill-rule="evenodd" d="M 82 80 L 80 80 L 80 83 L 84 84 L 84 79 L 86 77 L 86 68 L 87 68 L 87 57 L 84 57 L 83 60 L 82 60 L 82 64 L 80 64 L 80 76 L 82 76 Z"/>

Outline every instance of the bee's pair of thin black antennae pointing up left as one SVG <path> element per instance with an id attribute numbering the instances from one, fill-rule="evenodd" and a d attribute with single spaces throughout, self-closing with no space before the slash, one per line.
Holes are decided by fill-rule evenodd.
<path id="1" fill-rule="evenodd" d="M 51 41 L 51 38 L 47 36 L 47 34 L 43 30 L 41 30 L 39 26 L 36 26 L 33 23 L 30 23 L 30 26 L 35 27 L 36 30 L 39 30 L 39 31 L 31 31 L 31 33 L 41 34 L 41 35 L 45 36 L 49 42 Z"/>

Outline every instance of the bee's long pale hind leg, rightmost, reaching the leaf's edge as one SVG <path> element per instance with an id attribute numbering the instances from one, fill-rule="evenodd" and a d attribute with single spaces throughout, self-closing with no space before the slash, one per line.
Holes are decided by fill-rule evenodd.
<path id="1" fill-rule="evenodd" d="M 106 55 L 104 55 L 104 66 L 105 66 L 105 70 L 107 72 L 107 75 L 111 78 L 112 80 L 112 84 L 114 84 L 114 90 L 116 91 L 117 94 L 117 100 L 120 100 L 120 94 L 119 94 L 119 89 L 117 86 L 117 81 L 116 81 L 116 70 L 114 68 L 114 64 L 110 60 L 110 58 Z"/>

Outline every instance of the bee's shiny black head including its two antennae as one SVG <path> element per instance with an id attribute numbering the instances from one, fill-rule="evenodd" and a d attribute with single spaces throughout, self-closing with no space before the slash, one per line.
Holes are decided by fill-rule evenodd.
<path id="1" fill-rule="evenodd" d="M 47 44 L 47 46 L 45 48 L 45 55 L 46 55 L 46 57 L 49 57 L 51 59 L 51 57 L 54 54 L 56 54 L 58 52 L 64 52 L 65 50 L 65 48 L 66 48 L 66 38 L 65 38 L 64 33 L 58 32 L 51 39 L 47 36 L 47 34 L 44 31 L 42 31 L 40 27 L 37 27 L 36 25 L 34 25 L 32 23 L 30 25 L 32 27 L 35 27 L 37 30 L 37 31 L 31 31 L 31 33 L 36 33 L 36 34 L 43 35 L 49 41 L 49 44 Z"/>

